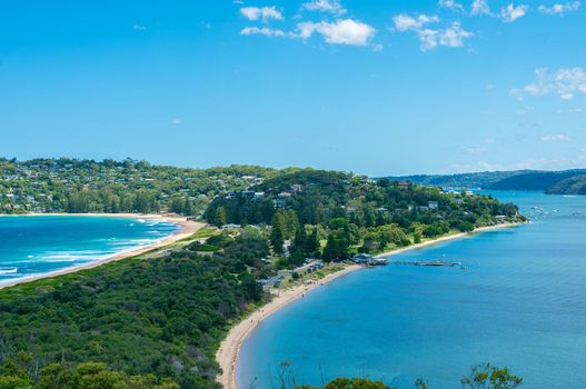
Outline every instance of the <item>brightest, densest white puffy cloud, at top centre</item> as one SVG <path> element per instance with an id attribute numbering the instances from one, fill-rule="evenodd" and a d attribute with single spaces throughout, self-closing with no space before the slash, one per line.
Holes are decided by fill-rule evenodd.
<path id="1" fill-rule="evenodd" d="M 335 22 L 301 22 L 297 24 L 298 32 L 294 37 L 308 39 L 314 33 L 324 37 L 330 44 L 368 46 L 376 34 L 374 27 L 352 19 Z"/>

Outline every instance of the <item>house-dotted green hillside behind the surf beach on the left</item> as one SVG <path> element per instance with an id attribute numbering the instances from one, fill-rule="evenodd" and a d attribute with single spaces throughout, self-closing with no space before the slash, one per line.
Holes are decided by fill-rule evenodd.
<path id="1" fill-rule="evenodd" d="M 210 199 L 277 174 L 251 166 L 183 169 L 147 161 L 0 158 L 0 213 L 200 215 Z"/>

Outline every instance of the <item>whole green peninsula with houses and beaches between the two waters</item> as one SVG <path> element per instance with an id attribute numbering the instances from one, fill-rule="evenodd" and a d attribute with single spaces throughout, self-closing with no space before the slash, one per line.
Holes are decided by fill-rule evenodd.
<path id="1" fill-rule="evenodd" d="M 515 205 L 474 192 L 337 171 L 192 171 L 131 161 L 6 166 L 36 169 L 37 178 L 2 181 L 4 211 L 148 210 L 175 213 L 168 220 L 185 227 L 149 252 L 0 291 L 8 360 L 27 355 L 48 380 L 102 363 L 145 388 L 234 387 L 238 350 L 255 322 L 358 269 L 349 265 L 356 255 L 387 256 L 526 220 Z M 102 173 L 77 181 L 92 171 Z M 196 177 L 201 181 L 189 183 Z M 271 298 L 278 288 L 285 291 Z"/>

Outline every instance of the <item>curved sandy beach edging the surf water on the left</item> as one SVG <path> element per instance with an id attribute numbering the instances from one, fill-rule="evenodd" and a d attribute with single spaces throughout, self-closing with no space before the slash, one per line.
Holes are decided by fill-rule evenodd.
<path id="1" fill-rule="evenodd" d="M 175 231 L 173 233 L 169 235 L 168 237 L 165 237 L 162 239 L 159 239 L 158 241 L 152 242 L 151 245 L 147 246 L 140 246 L 136 249 L 130 249 L 127 251 L 120 251 L 115 252 L 107 258 L 97 259 L 95 261 L 82 263 L 79 266 L 71 266 L 68 268 L 63 268 L 60 270 L 50 271 L 47 273 L 40 273 L 40 275 L 33 275 L 30 277 L 23 277 L 20 279 L 16 279 L 13 281 L 9 281 L 6 283 L 0 283 L 0 290 L 14 287 L 17 285 L 21 283 L 29 283 L 37 280 L 46 279 L 46 278 L 53 278 L 58 276 L 69 275 L 73 272 L 78 272 L 81 270 L 88 270 L 93 269 L 97 267 L 100 267 L 106 263 L 119 261 L 125 258 L 136 257 L 140 256 L 145 252 L 160 249 L 166 246 L 172 245 L 179 240 L 182 240 L 185 238 L 190 237 L 201 228 L 206 226 L 206 223 L 197 222 L 197 221 L 190 221 L 186 218 L 181 217 L 175 217 L 175 216 L 165 216 L 165 215 L 155 215 L 155 213 L 24 213 L 24 215 L 0 215 L 0 217 L 103 217 L 103 218 L 131 218 L 131 219 L 159 219 L 165 220 L 166 222 L 170 222 L 173 225 L 179 226 L 179 229 Z"/>

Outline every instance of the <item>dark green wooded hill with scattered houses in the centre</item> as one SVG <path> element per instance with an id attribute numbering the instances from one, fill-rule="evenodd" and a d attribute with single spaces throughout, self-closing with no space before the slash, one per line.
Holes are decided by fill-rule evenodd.
<path id="1" fill-rule="evenodd" d="M 285 172 L 249 190 L 218 196 L 205 213 L 216 226 L 271 226 L 272 247 L 299 265 L 319 251 L 326 260 L 404 247 L 451 231 L 520 221 L 514 205 L 439 188 L 374 181 L 320 170 Z"/>

